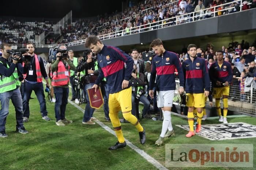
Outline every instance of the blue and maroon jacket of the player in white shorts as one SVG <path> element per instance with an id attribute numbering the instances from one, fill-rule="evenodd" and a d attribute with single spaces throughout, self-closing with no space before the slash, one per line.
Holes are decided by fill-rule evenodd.
<path id="1" fill-rule="evenodd" d="M 157 91 L 175 90 L 175 68 L 178 70 L 180 86 L 184 87 L 184 74 L 178 55 L 174 52 L 165 51 L 163 57 L 156 55 L 152 60 L 149 90 L 153 90 L 157 74 Z"/>

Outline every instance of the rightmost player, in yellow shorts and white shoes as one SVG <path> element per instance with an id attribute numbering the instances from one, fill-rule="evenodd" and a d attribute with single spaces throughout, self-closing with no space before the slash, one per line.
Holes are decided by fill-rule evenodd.
<path id="1" fill-rule="evenodd" d="M 212 81 L 213 93 L 212 97 L 215 98 L 215 106 L 219 115 L 219 122 L 227 124 L 227 108 L 229 97 L 229 84 L 232 81 L 232 68 L 229 62 L 223 60 L 223 52 L 217 51 L 217 62 L 211 64 L 209 70 L 210 79 Z M 223 117 L 221 115 L 220 100 L 223 100 Z"/>

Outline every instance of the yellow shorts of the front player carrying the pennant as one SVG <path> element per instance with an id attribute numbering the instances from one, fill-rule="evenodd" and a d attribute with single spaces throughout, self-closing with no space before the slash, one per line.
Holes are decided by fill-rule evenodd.
<path id="1" fill-rule="evenodd" d="M 132 87 L 109 94 L 109 111 L 127 112 L 132 110 Z"/>

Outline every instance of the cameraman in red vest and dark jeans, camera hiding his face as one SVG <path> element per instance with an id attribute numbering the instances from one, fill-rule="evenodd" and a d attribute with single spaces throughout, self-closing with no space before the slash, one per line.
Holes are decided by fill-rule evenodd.
<path id="1" fill-rule="evenodd" d="M 65 118 L 65 111 L 68 104 L 70 70 L 75 71 L 76 67 L 67 58 L 67 53 L 64 52 L 67 50 L 67 47 L 60 46 L 59 49 L 63 52 L 58 52 L 56 58 L 52 59 L 52 86 L 56 99 L 54 106 L 56 125 L 65 126 L 64 123 L 73 122 Z"/>

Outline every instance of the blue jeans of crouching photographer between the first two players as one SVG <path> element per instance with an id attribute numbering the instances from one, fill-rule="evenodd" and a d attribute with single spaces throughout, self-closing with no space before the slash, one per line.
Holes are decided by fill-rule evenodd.
<path id="1" fill-rule="evenodd" d="M 136 115 L 136 95 L 135 93 L 132 93 L 132 114 Z M 143 110 L 142 110 L 142 115 L 146 115 L 148 111 L 150 110 L 150 102 L 148 99 L 144 96 L 141 95 L 139 98 L 139 101 L 144 104 Z"/>

